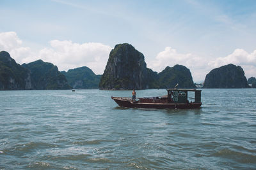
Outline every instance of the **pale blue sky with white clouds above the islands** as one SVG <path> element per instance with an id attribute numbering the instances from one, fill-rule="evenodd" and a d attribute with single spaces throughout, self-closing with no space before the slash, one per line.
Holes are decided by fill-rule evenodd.
<path id="1" fill-rule="evenodd" d="M 200 82 L 232 63 L 256 76 L 254 0 L 0 0 L 0 23 L 0 51 L 19 64 L 102 74 L 111 49 L 129 43 L 153 71 L 180 64 Z"/>

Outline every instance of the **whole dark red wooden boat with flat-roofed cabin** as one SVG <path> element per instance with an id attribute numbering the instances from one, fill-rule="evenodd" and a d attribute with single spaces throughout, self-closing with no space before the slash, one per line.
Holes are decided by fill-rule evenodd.
<path id="1" fill-rule="evenodd" d="M 167 95 L 157 97 L 142 97 L 132 101 L 132 97 L 113 97 L 119 106 L 125 108 L 154 108 L 154 109 L 194 109 L 200 108 L 201 91 L 198 89 L 166 89 Z M 195 97 L 188 97 L 188 92 L 194 92 Z M 188 99 L 192 99 L 189 102 Z"/>

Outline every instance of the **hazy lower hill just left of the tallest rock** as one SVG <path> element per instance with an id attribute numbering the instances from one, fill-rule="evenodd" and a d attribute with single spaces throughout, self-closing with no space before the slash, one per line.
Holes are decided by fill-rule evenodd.
<path id="1" fill-rule="evenodd" d="M 78 67 L 69 69 L 67 72 L 61 71 L 67 78 L 68 84 L 74 89 L 98 89 L 100 75 L 93 73 L 88 67 Z"/>

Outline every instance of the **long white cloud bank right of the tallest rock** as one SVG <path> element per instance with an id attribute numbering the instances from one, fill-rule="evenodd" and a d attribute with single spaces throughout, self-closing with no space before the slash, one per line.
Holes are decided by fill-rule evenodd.
<path id="1" fill-rule="evenodd" d="M 200 57 L 191 53 L 179 53 L 174 48 L 167 46 L 164 51 L 157 54 L 156 59 L 148 62 L 148 67 L 160 72 L 166 66 L 172 67 L 175 64 L 181 64 L 190 69 L 194 81 L 204 81 L 206 74 L 211 69 L 230 63 L 243 67 L 247 78 L 256 76 L 256 50 L 248 53 L 239 48 L 226 57 L 210 60 L 207 57 Z"/>

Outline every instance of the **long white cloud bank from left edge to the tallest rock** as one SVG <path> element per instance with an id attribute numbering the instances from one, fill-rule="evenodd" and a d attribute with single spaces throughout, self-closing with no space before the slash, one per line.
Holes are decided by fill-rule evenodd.
<path id="1" fill-rule="evenodd" d="M 17 63 L 22 64 L 42 59 L 58 66 L 60 71 L 87 66 L 95 74 L 102 74 L 111 51 L 110 46 L 102 43 L 79 44 L 67 40 L 52 40 L 49 43 L 51 47 L 32 52 L 29 47 L 22 46 L 22 40 L 19 39 L 16 32 L 0 33 L 0 50 L 9 52 Z"/>

